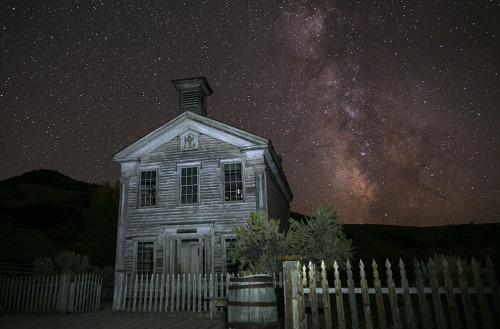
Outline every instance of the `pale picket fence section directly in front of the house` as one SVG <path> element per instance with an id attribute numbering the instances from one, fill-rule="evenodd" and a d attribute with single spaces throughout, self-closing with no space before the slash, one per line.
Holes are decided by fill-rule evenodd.
<path id="1" fill-rule="evenodd" d="M 117 273 L 113 311 L 208 312 L 211 299 L 227 297 L 231 276 Z M 281 274 L 274 276 L 273 281 L 275 287 L 283 286 Z"/>

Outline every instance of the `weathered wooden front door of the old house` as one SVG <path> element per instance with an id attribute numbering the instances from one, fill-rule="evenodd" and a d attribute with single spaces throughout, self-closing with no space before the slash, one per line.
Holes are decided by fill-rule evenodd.
<path id="1" fill-rule="evenodd" d="M 202 239 L 181 239 L 177 253 L 177 273 L 199 275 L 203 268 Z"/>

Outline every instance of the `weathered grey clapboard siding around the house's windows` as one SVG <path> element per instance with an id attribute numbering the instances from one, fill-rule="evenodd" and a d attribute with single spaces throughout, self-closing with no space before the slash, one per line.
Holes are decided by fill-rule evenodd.
<path id="1" fill-rule="evenodd" d="M 129 172 L 122 172 L 128 178 L 127 188 L 127 218 L 125 220 L 125 257 L 124 269 L 134 273 L 134 241 L 155 242 L 155 273 L 168 273 L 172 259 L 166 249 L 173 248 L 172 240 L 165 236 L 165 230 L 171 229 L 212 229 L 213 236 L 203 233 L 205 239 L 204 252 L 207 263 L 206 271 L 222 271 L 223 239 L 221 236 L 231 236 L 235 225 L 245 223 L 248 214 L 256 210 L 256 179 L 254 166 L 264 165 L 264 160 L 247 158 L 239 147 L 210 136 L 200 134 L 198 149 L 182 151 L 180 138 L 174 138 L 147 156 Z M 244 164 L 244 201 L 226 203 L 223 201 L 221 162 L 241 160 Z M 180 205 L 179 201 L 179 165 L 199 164 L 199 204 Z M 158 195 L 157 206 L 138 207 L 138 184 L 140 172 L 157 170 Z M 283 202 L 280 202 L 279 192 L 271 179 L 267 179 L 268 188 L 272 192 L 269 201 L 274 208 L 278 205 L 279 216 L 285 212 Z M 288 210 L 288 207 L 286 207 Z M 286 215 L 288 216 L 288 214 Z M 280 217 L 281 218 L 281 217 Z M 200 235 L 200 234 L 198 234 Z M 186 235 L 186 238 L 189 238 Z M 212 262 L 215 260 L 212 266 Z M 215 268 L 214 268 L 215 267 Z"/>

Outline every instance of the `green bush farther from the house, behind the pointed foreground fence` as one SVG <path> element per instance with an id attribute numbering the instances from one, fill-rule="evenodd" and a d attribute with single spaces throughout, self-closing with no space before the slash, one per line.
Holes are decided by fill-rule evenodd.
<path id="1" fill-rule="evenodd" d="M 342 225 L 336 222 L 333 205 L 319 207 L 305 221 L 290 219 L 288 243 L 294 254 L 332 268 L 335 261 L 343 266 L 352 257 L 352 241 L 347 239 Z"/>

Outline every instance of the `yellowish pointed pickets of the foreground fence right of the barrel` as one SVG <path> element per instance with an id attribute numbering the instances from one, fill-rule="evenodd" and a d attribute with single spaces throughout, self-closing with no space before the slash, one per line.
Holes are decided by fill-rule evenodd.
<path id="1" fill-rule="evenodd" d="M 429 286 L 424 286 L 424 279 L 422 271 L 420 270 L 420 263 L 414 260 L 415 269 L 415 283 L 416 287 L 410 287 L 409 280 L 407 278 L 406 269 L 404 262 L 399 260 L 399 272 L 401 276 L 401 286 L 396 286 L 396 278 L 391 269 L 391 263 L 386 260 L 386 274 L 387 274 L 387 288 L 382 288 L 379 279 L 378 268 L 375 260 L 372 262 L 373 267 L 373 277 L 374 277 L 374 288 L 368 288 L 368 283 L 366 281 L 366 273 L 364 264 L 360 261 L 360 285 L 361 288 L 354 288 L 354 274 L 352 273 L 352 266 L 349 261 L 346 262 L 347 269 L 347 288 L 342 288 L 340 279 L 340 267 L 337 262 L 334 262 L 334 276 L 335 276 L 335 288 L 329 289 L 327 283 L 326 270 L 324 268 L 324 263 L 322 263 L 322 273 L 321 273 L 321 285 L 316 282 L 316 278 L 319 277 L 319 273 L 316 272 L 315 264 L 309 263 L 309 278 L 306 275 L 306 267 L 302 266 L 300 262 L 296 263 L 294 266 L 297 269 L 297 293 L 292 296 L 292 279 L 294 275 L 291 273 L 290 264 L 284 263 L 284 273 L 285 273 L 285 315 L 286 320 L 293 319 L 293 313 L 298 314 L 298 322 L 286 322 L 287 329 L 295 328 L 305 328 L 305 316 L 304 316 L 304 294 L 309 294 L 308 307 L 311 309 L 311 316 L 309 319 L 309 324 L 312 325 L 313 329 L 316 328 L 331 328 L 331 323 L 329 315 L 331 315 L 331 309 L 328 305 L 330 293 L 335 294 L 336 306 L 337 306 L 337 316 L 338 316 L 338 327 L 345 328 L 347 323 L 345 319 L 345 313 L 343 310 L 343 294 L 347 294 L 349 297 L 349 307 L 351 319 L 349 322 L 352 328 L 368 328 L 373 329 L 375 326 L 379 328 L 387 328 L 388 324 L 385 321 L 385 311 L 384 311 L 384 298 L 389 299 L 392 313 L 392 322 L 390 326 L 393 328 L 417 328 L 422 327 L 424 329 L 430 328 L 462 328 L 467 327 L 472 328 L 494 328 L 498 325 L 500 321 L 497 316 L 498 304 L 498 281 L 495 277 L 495 272 L 493 271 L 493 264 L 491 260 L 487 260 L 487 268 L 485 271 L 481 271 L 482 276 L 479 275 L 479 265 L 472 258 L 471 269 L 473 274 L 473 288 L 469 288 L 467 280 L 464 275 L 464 266 L 460 259 L 456 262 L 456 267 L 451 267 L 447 260 L 444 260 L 439 265 L 439 276 L 436 273 L 436 264 L 429 259 L 427 263 L 427 276 Z M 455 270 L 458 274 L 458 284 L 459 288 L 453 286 L 451 268 Z M 490 286 L 484 287 L 483 284 L 489 281 Z M 439 283 L 443 286 L 439 286 Z M 309 286 L 308 286 L 309 285 Z M 320 287 L 321 286 L 321 287 Z M 303 289 L 307 288 L 307 289 Z M 318 303 L 320 302 L 317 298 L 316 293 L 323 293 L 323 309 L 325 311 L 324 324 L 318 321 Z M 363 324 L 359 323 L 357 318 L 357 302 L 356 294 L 361 294 L 363 298 L 363 309 L 365 315 L 365 322 Z M 374 323 L 371 317 L 371 306 L 369 294 L 374 294 L 377 301 L 377 311 L 379 313 L 378 323 Z M 418 304 L 420 308 L 420 313 L 415 313 L 414 303 L 412 294 L 417 295 Z M 459 297 L 456 294 L 461 295 L 462 305 L 461 307 L 457 304 Z M 386 296 L 383 296 L 386 295 Z M 445 297 L 444 297 L 445 295 Z M 298 300 L 298 310 L 295 311 L 291 307 L 291 300 L 296 297 Z M 432 299 L 432 311 L 429 309 L 429 303 L 427 298 Z M 399 305 L 401 301 L 404 302 L 404 311 L 400 313 Z M 446 302 L 446 307 L 442 304 Z M 475 303 L 472 306 L 472 302 Z M 287 304 L 288 303 L 288 304 Z M 416 307 L 416 306 L 415 306 Z M 445 310 L 446 308 L 446 310 Z M 459 312 L 459 309 L 462 309 Z M 401 309 L 402 310 L 402 309 Z M 445 314 L 445 311 L 447 312 Z M 347 313 L 347 312 L 346 312 Z M 353 315 L 354 314 L 354 315 Z M 435 317 L 432 321 L 431 315 Z M 417 318 L 418 317 L 418 318 Z M 404 320 L 404 323 L 403 323 Z"/>

